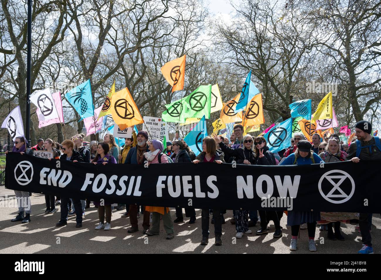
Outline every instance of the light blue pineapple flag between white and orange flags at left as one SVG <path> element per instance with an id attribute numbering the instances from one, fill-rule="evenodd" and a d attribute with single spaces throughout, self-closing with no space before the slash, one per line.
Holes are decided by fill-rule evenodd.
<path id="1" fill-rule="evenodd" d="M 90 79 L 77 85 L 74 89 L 69 90 L 65 97 L 67 101 L 74 107 L 82 119 L 94 116 L 93 96 L 91 95 Z"/>

